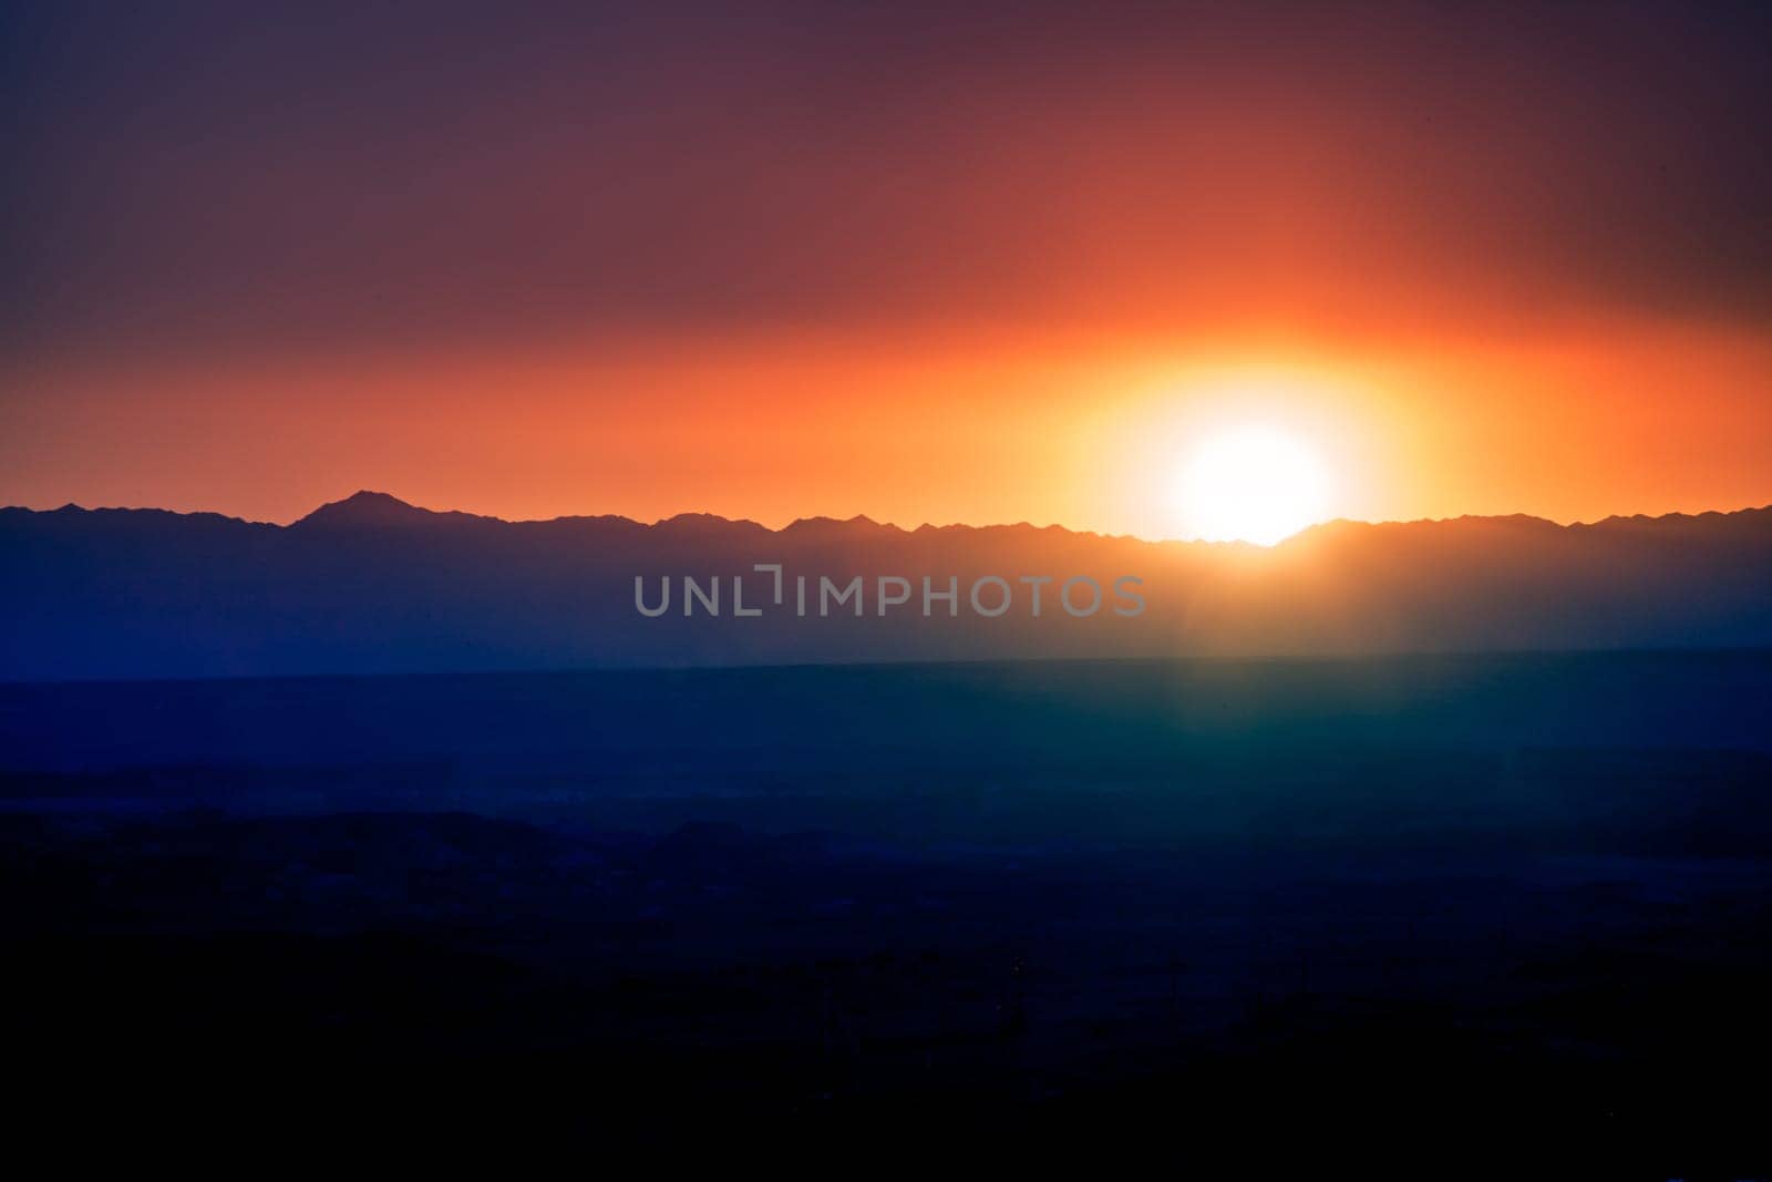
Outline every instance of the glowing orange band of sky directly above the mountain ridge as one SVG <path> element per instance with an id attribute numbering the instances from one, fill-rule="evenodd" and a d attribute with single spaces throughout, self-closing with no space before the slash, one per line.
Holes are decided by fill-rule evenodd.
<path id="1" fill-rule="evenodd" d="M 39 507 L 275 521 L 377 487 L 505 517 L 867 514 L 1219 537 L 1226 510 L 1194 512 L 1177 482 L 1203 443 L 1256 424 L 1320 464 L 1313 519 L 1772 500 L 1758 393 L 1772 347 L 1754 337 L 1216 344 L 766 340 L 133 376 L 69 363 L 9 402 L 0 466 L 7 500 Z M 136 397 L 119 400 L 122 383 Z"/>

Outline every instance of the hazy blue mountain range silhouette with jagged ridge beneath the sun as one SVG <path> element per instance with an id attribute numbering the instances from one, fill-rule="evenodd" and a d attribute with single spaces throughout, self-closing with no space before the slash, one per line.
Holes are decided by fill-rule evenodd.
<path id="1" fill-rule="evenodd" d="M 865 615 L 771 601 L 781 564 L 865 581 Z M 966 608 L 996 574 L 1022 595 Z M 719 579 L 727 613 L 647 618 L 634 578 Z M 730 615 L 746 579 L 755 618 Z M 886 617 L 875 581 L 960 588 Z M 1028 613 L 1021 576 L 1053 576 Z M 1072 618 L 1072 576 L 1141 579 L 1136 618 Z M 356 493 L 287 526 L 154 509 L 0 509 L 0 679 L 418 673 L 1021 657 L 1327 656 L 1772 645 L 1772 507 L 1609 517 L 1334 521 L 1271 549 L 1146 542 L 1026 523 L 804 517 L 781 530 L 711 514 L 503 521 Z M 813 601 L 815 604 L 817 601 Z"/>

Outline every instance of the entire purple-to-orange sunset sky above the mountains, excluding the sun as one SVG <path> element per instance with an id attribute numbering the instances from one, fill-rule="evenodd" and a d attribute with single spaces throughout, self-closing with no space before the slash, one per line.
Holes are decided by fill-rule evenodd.
<path id="1" fill-rule="evenodd" d="M 0 503 L 1168 537 L 1772 502 L 1744 5 L 0 14 Z"/>

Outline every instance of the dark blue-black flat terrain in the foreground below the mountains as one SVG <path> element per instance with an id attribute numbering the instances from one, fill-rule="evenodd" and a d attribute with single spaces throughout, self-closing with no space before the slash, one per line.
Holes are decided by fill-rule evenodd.
<path id="1" fill-rule="evenodd" d="M 0 743 L 39 1097 L 1768 1168 L 1768 654 L 0 686 Z"/>

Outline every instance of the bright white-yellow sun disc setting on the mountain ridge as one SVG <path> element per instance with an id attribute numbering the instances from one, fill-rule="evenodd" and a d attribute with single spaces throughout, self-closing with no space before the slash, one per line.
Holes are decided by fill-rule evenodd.
<path id="1" fill-rule="evenodd" d="M 1272 546 L 1329 517 L 1329 473 L 1297 436 L 1239 425 L 1201 438 L 1184 459 L 1177 509 L 1191 537 Z"/>

